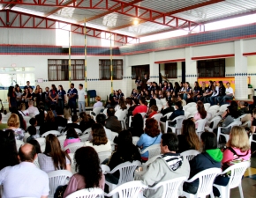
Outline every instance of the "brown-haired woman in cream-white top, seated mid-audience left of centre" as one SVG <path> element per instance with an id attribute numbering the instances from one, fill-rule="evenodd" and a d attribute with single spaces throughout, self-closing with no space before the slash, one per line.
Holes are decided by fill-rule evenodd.
<path id="1" fill-rule="evenodd" d="M 93 139 L 91 141 L 85 142 L 85 146 L 93 147 L 96 152 L 111 151 L 111 143 L 106 136 L 102 124 L 93 124 L 92 136 Z"/>

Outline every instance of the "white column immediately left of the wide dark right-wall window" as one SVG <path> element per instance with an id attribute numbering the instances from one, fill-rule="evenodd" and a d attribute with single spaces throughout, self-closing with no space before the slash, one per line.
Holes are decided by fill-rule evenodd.
<path id="1" fill-rule="evenodd" d="M 198 79 L 197 62 L 192 60 L 192 48 L 185 48 L 185 81 L 193 84 Z"/>

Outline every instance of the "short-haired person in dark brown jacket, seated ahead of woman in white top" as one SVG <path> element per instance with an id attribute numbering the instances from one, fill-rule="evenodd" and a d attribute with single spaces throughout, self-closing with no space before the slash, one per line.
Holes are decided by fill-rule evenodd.
<path id="1" fill-rule="evenodd" d="M 122 130 L 121 122 L 117 120 L 115 116 L 114 108 L 108 108 L 107 110 L 108 118 L 106 119 L 105 127 L 113 132 L 120 132 Z"/>

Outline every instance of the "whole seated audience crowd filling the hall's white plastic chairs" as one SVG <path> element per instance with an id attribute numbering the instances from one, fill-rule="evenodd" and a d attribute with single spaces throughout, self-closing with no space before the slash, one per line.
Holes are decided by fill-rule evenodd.
<path id="1" fill-rule="evenodd" d="M 74 88 L 71 89 L 73 91 Z M 61 91 L 63 92 L 63 88 Z M 215 82 L 210 82 L 208 87 L 204 84 L 200 87 L 196 82 L 193 92 L 188 83 L 182 84 L 182 87 L 177 83 L 174 87 L 167 82 L 162 86 L 153 83 L 149 84 L 148 90 L 140 92 L 133 90 L 131 97 L 126 99 L 121 90 L 111 93 L 105 106 L 106 113 L 97 114 L 94 118 L 83 109 L 78 116 L 72 106 L 58 106 L 56 103 L 46 108 L 45 104 L 39 102 L 39 105 L 34 107 L 34 102 L 30 100 L 26 109 L 27 115 L 31 115 L 29 127 L 26 126 L 28 124 L 24 112 L 11 106 L 11 115 L 7 124 L 1 123 L 2 114 L 0 115 L 0 152 L 5 159 L 0 162 L 0 185 L 4 187 L 3 197 L 48 197 L 50 188 L 47 173 L 56 170 L 72 172 L 72 164 L 75 165 L 76 173 L 72 175 L 67 185 L 62 187 L 64 189 L 62 197 L 90 187 L 100 187 L 108 192 L 106 182 L 117 184 L 120 175 L 119 172 L 110 174 L 102 171 L 99 158 L 102 152 L 111 153 L 109 158 L 102 161 L 102 165 L 108 165 L 110 171 L 124 162 L 147 162 L 147 168 L 138 169 L 135 178 L 142 180 L 148 187 L 182 176 L 191 179 L 197 173 L 213 167 L 222 168 L 224 171 L 230 165 L 249 161 L 251 145 L 247 130 L 255 132 L 256 109 L 253 109 L 252 115 L 246 118 L 250 121 L 252 119 L 251 128 L 245 130 L 241 126 L 235 126 L 222 129 L 222 133 L 230 135 L 223 149 L 218 147 L 216 130 L 202 132 L 200 136 L 196 132 L 198 128 L 196 121 L 209 118 L 204 102 L 222 105 L 230 99 L 233 99 L 230 84 L 228 83 L 225 88 L 221 81 L 219 86 L 216 86 Z M 173 120 L 177 116 L 184 115 L 183 106 L 193 101 L 197 103 L 197 113 L 184 119 L 181 133 L 179 135 L 172 131 L 164 133 L 154 116 L 172 113 L 169 117 L 162 117 L 161 121 L 170 121 L 170 126 L 176 126 L 177 121 Z M 102 107 L 100 97 L 96 99 L 94 108 L 96 107 Z M 130 128 L 122 127 L 117 119 L 118 111 L 125 111 L 127 117 L 133 116 Z M 249 114 L 245 102 L 241 101 L 237 105 L 237 102 L 231 101 L 230 106 L 221 115 L 222 121 L 219 126 L 229 126 L 241 114 Z M 76 129 L 82 133 L 89 129 L 87 141 L 83 142 L 80 139 L 81 134 L 78 134 Z M 45 137 L 45 148 L 41 147 L 37 138 L 50 130 L 60 130 L 60 134 L 65 136 L 63 145 L 58 137 L 49 134 Z M 116 132 L 117 136 L 112 132 Z M 138 142 L 133 143 L 135 136 L 138 137 Z M 17 148 L 17 140 L 24 140 L 25 143 Z M 221 141 L 224 143 L 225 140 L 221 139 Z M 74 158 L 70 157 L 71 150 L 62 149 L 62 146 L 72 143 L 83 143 L 83 146 L 74 152 Z M 149 152 L 143 153 L 143 150 L 154 144 L 160 147 L 161 153 L 149 158 Z M 256 145 L 253 148 L 255 147 Z M 200 154 L 189 161 L 182 155 L 186 150 L 198 150 Z M 35 160 L 38 161 L 40 169 L 34 164 Z M 230 172 L 218 175 L 215 184 L 226 186 L 230 180 L 229 174 Z M 16 190 L 13 190 L 13 187 L 17 187 Z M 30 190 L 27 190 L 27 187 L 31 187 Z M 184 182 L 179 187 L 179 195 L 182 195 L 183 191 L 196 194 L 198 187 L 198 180 L 191 183 Z M 56 188 L 56 191 L 58 190 L 59 188 Z M 215 187 L 213 192 L 215 196 L 221 195 Z M 156 191 L 146 189 L 144 195 L 150 198 L 162 197 L 162 187 Z"/>

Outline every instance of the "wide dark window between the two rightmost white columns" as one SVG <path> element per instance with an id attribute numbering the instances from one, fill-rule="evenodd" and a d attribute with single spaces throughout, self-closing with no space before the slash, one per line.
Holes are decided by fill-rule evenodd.
<path id="1" fill-rule="evenodd" d="M 225 59 L 198 61 L 199 77 L 225 77 Z"/>

